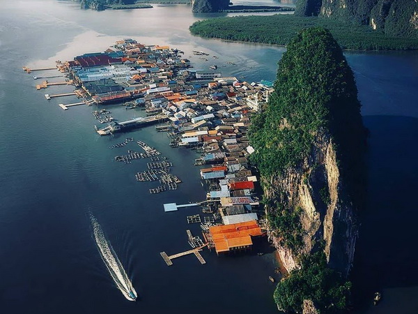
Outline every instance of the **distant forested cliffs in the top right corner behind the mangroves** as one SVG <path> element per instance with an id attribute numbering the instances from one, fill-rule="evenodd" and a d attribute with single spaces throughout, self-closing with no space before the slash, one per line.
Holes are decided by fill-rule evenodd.
<path id="1" fill-rule="evenodd" d="M 418 37 L 417 0 L 300 0 L 295 14 L 355 20 L 390 36 Z"/>

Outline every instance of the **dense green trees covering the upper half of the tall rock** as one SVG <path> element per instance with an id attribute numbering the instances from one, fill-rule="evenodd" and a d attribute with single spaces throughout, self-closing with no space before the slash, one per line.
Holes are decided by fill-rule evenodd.
<path id="1" fill-rule="evenodd" d="M 330 31 L 307 29 L 291 40 L 274 89 L 249 133 L 261 174 L 297 166 L 321 130 L 330 130 L 341 154 L 364 135 L 353 71 Z"/>

